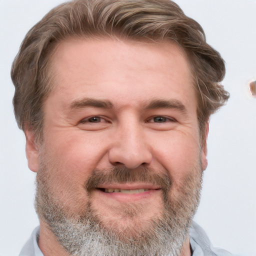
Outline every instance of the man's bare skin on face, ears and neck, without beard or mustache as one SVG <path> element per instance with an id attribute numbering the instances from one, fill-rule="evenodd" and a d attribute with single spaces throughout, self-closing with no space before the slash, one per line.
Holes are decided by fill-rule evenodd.
<path id="1" fill-rule="evenodd" d="M 51 173 L 49 184 L 54 182 L 56 198 L 74 214 L 81 214 L 81 205 L 88 200 L 83 185 L 94 169 L 153 168 L 171 178 L 175 193 L 198 155 L 206 168 L 192 76 L 187 57 L 176 44 L 69 39 L 57 46 L 52 66 L 54 89 L 43 107 L 43 143 L 37 144 L 26 129 L 26 156 L 36 172 L 43 156 L 50 155 L 58 170 Z M 157 104 L 149 107 L 155 99 Z M 92 106 L 92 100 L 97 105 L 98 100 L 107 101 L 111 107 Z M 159 100 L 167 101 L 168 107 Z M 207 132 L 208 125 L 206 136 Z M 116 221 L 117 209 L 128 203 L 142 209 L 141 223 L 162 209 L 161 188 L 152 184 L 103 187 L 149 189 L 136 194 L 94 189 L 91 203 L 105 225 Z M 118 221 L 120 227 L 132 225 L 128 217 Z M 66 255 L 43 219 L 40 226 L 43 254 Z M 189 237 L 181 255 L 190 255 Z"/>

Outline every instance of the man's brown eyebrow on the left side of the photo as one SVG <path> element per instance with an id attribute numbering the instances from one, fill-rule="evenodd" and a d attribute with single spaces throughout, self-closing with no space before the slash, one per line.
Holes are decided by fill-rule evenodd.
<path id="1" fill-rule="evenodd" d="M 74 100 L 70 109 L 77 109 L 83 107 L 98 107 L 98 108 L 113 108 L 113 104 L 109 100 L 95 99 L 95 98 L 81 98 Z"/>

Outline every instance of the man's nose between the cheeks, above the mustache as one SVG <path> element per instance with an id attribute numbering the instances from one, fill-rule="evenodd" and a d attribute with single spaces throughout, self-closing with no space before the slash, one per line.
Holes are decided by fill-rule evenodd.
<path id="1" fill-rule="evenodd" d="M 146 141 L 143 127 L 129 124 L 119 128 L 113 135 L 108 158 L 112 165 L 123 164 L 129 169 L 150 164 L 152 153 L 149 143 Z"/>

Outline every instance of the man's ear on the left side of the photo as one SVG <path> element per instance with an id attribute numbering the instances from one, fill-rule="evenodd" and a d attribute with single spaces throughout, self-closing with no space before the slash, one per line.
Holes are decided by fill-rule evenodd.
<path id="1" fill-rule="evenodd" d="M 39 146 L 35 142 L 35 137 L 32 130 L 25 128 L 24 132 L 26 137 L 26 158 L 27 158 L 28 168 L 36 172 L 39 167 L 39 158 L 38 158 Z"/>

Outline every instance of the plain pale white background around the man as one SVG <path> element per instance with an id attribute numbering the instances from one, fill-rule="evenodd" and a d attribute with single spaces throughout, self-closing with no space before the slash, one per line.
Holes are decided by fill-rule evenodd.
<path id="1" fill-rule="evenodd" d="M 27 30 L 60 0 L 0 0 L 0 255 L 17 255 L 38 224 L 35 174 L 13 110 L 10 65 Z M 195 220 L 215 246 L 256 255 L 256 0 L 177 0 L 226 61 L 230 99 L 211 117 L 208 168 Z"/>

